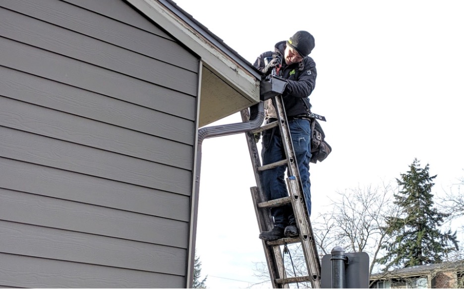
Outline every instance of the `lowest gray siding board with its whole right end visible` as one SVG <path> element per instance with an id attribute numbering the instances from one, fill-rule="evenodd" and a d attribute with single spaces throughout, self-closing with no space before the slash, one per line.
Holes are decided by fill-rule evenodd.
<path id="1" fill-rule="evenodd" d="M 0 221 L 4 253 L 184 275 L 186 250 Z"/>

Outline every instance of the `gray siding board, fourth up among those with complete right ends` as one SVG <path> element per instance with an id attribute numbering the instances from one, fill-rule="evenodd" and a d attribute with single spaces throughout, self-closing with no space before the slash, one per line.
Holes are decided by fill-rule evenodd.
<path id="1" fill-rule="evenodd" d="M 0 127 L 0 156 L 190 195 L 191 171 Z"/>

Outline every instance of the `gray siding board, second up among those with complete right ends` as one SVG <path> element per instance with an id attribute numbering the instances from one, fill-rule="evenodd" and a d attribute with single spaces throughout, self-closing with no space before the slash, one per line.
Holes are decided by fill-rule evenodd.
<path id="1" fill-rule="evenodd" d="M 0 220 L 187 248 L 187 222 L 5 189 L 0 199 Z"/>

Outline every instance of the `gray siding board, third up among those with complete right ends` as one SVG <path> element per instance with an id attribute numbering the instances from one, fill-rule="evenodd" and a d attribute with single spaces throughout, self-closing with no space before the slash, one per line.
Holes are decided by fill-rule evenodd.
<path id="1" fill-rule="evenodd" d="M 188 196 L 2 157 L 0 165 L 0 184 L 8 190 L 180 221 L 189 220 Z M 20 180 L 13 181 L 18 176 Z"/>

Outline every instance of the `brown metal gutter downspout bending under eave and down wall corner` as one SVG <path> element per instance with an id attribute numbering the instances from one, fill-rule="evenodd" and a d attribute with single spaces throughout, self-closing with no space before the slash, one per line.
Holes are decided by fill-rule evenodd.
<path id="1" fill-rule="evenodd" d="M 196 224 L 198 218 L 198 200 L 200 191 L 200 169 L 201 169 L 201 144 L 203 140 L 213 137 L 222 137 L 234 134 L 240 134 L 256 130 L 261 127 L 264 121 L 264 102 L 260 101 L 250 107 L 250 119 L 246 122 L 206 127 L 198 130 L 198 143 L 197 143 L 197 164 L 196 164 L 196 176 L 195 176 L 195 190 L 193 192 L 192 201 L 194 206 L 193 213 L 193 227 L 192 227 L 192 249 L 190 256 L 190 278 L 187 280 L 187 288 L 192 288 L 193 285 L 193 269 L 195 262 L 195 242 L 196 242 Z"/>

